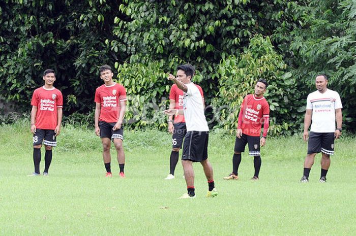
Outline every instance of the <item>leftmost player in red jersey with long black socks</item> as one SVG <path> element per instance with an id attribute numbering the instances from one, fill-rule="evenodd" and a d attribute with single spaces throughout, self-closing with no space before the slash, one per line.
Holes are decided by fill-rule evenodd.
<path id="1" fill-rule="evenodd" d="M 40 175 L 41 147 L 45 145 L 45 168 L 43 175 L 48 175 L 52 161 L 52 147 L 57 146 L 56 137 L 60 135 L 62 123 L 63 96 L 53 87 L 55 73 L 48 69 L 43 73 L 44 86 L 37 88 L 32 95 L 31 132 L 34 145 L 35 172 L 30 176 Z"/>

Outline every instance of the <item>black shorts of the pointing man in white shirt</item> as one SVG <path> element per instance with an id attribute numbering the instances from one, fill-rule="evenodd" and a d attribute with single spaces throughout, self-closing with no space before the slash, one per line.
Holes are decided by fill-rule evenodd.
<path id="1" fill-rule="evenodd" d="M 182 160 L 200 162 L 207 159 L 209 131 L 188 131 L 184 138 Z"/>

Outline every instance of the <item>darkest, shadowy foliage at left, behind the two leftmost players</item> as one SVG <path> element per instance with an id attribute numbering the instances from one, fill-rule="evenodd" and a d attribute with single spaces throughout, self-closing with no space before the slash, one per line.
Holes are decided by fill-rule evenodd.
<path id="1" fill-rule="evenodd" d="M 88 112 L 101 84 L 98 67 L 122 60 L 111 39 L 117 1 L 5 0 L 0 3 L 0 94 L 29 110 L 42 73 L 56 71 L 66 114 Z"/>

